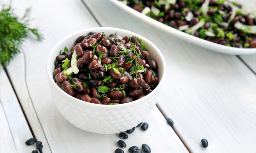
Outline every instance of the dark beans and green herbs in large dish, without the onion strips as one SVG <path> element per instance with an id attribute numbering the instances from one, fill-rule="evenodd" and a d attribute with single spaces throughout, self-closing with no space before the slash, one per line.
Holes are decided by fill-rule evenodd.
<path id="1" fill-rule="evenodd" d="M 170 9 L 165 9 L 165 5 L 159 5 L 158 0 L 140 0 L 137 2 L 128 0 L 127 5 L 138 12 L 142 12 L 145 7 L 151 7 L 153 5 L 159 9 L 161 13 L 158 16 L 151 13 L 149 16 L 163 24 L 169 25 L 176 29 L 182 25 L 189 25 L 189 27 L 192 27 L 193 25 L 199 23 L 200 20 L 204 20 L 204 26 L 199 28 L 197 32 L 193 33 L 193 35 L 196 37 L 200 37 L 202 39 L 226 46 L 238 48 L 256 47 L 255 33 L 246 33 L 245 31 L 237 29 L 234 26 L 234 24 L 238 21 L 244 25 L 256 25 L 256 17 L 250 18 L 250 14 L 243 15 L 240 12 L 237 12 L 235 18 L 228 26 L 219 25 L 219 23 L 217 24 L 217 22 L 215 22 L 216 19 L 219 22 L 227 22 L 232 14 L 231 6 L 224 4 L 223 0 L 210 0 L 207 17 L 199 12 L 200 7 L 205 2 L 205 0 L 177 0 L 175 4 L 170 6 Z M 241 4 L 233 4 L 237 5 L 238 8 L 242 8 Z M 192 12 L 193 14 L 191 21 L 187 21 L 185 19 L 189 12 Z M 210 25 L 210 22 L 215 23 L 213 30 L 216 36 L 206 36 L 204 34 L 205 31 L 211 28 L 212 25 Z M 224 34 L 218 35 L 220 31 Z"/>

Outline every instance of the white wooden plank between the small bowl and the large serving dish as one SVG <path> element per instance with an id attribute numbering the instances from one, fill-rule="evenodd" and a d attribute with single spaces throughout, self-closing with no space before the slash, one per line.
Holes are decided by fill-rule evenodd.
<path id="1" fill-rule="evenodd" d="M 107 1 L 85 1 L 102 26 L 133 31 L 152 41 L 168 66 L 158 106 L 191 152 L 255 152 L 256 79 L 236 57 L 203 50 L 169 36 Z M 108 8 L 108 11 L 104 9 Z M 104 12 L 104 13 L 103 13 Z M 112 24 L 115 16 L 118 22 Z M 201 146 L 201 139 L 209 147 Z"/>

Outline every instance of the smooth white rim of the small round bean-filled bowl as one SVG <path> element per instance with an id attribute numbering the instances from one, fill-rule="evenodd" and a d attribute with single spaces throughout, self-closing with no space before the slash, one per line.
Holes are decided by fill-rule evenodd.
<path id="1" fill-rule="evenodd" d="M 147 38 L 145 38 L 144 36 L 141 36 L 139 34 L 136 34 L 132 31 L 128 31 L 128 30 L 124 30 L 124 29 L 120 29 L 120 28 L 114 28 L 114 27 L 93 27 L 93 28 L 87 28 L 87 29 L 83 29 L 83 30 L 79 30 L 77 32 L 74 32 L 68 36 L 65 36 L 63 39 L 61 39 L 57 44 L 55 44 L 55 46 L 52 48 L 52 50 L 50 51 L 49 55 L 48 55 L 48 58 L 47 58 L 47 63 L 46 63 L 46 70 L 47 70 L 47 74 L 48 74 L 48 78 L 50 80 L 49 83 L 51 84 L 54 84 L 53 86 L 55 88 L 57 88 L 58 91 L 60 91 L 61 93 L 63 93 L 65 96 L 68 96 L 70 97 L 73 101 L 76 101 L 80 104 L 85 104 L 85 105 L 88 105 L 88 106 L 91 106 L 91 107 L 102 107 L 102 108 L 117 108 L 117 107 L 128 107 L 128 106 L 131 106 L 131 105 L 134 105 L 136 103 L 139 103 L 139 102 L 142 102 L 144 101 L 144 99 L 146 99 L 145 97 L 147 97 L 148 95 L 146 95 L 145 97 L 141 98 L 141 99 L 138 99 L 138 100 L 134 100 L 132 102 L 129 102 L 129 103 L 124 103 L 122 105 L 99 105 L 99 104 L 94 104 L 94 103 L 88 103 L 86 101 L 83 101 L 83 100 L 80 100 L 80 99 L 77 99 L 73 96 L 70 96 L 69 94 L 65 93 L 60 87 L 57 86 L 57 84 L 54 82 L 54 80 L 52 79 L 52 70 L 50 70 L 50 64 L 52 63 L 52 61 L 50 61 L 50 56 L 54 53 L 54 52 L 57 52 L 57 46 L 59 46 L 59 44 L 61 44 L 64 40 L 68 39 L 69 37 L 71 36 L 74 36 L 74 35 L 77 35 L 79 33 L 86 33 L 86 32 L 90 32 L 90 31 L 104 31 L 104 29 L 108 29 L 108 30 L 112 30 L 113 32 L 114 31 L 122 31 L 122 32 L 125 32 L 125 33 L 129 33 L 129 35 L 132 35 L 132 36 L 138 36 L 139 38 L 141 38 L 143 41 L 147 41 L 147 43 L 149 43 L 152 48 L 155 49 L 155 51 L 157 52 L 157 54 L 160 56 L 162 62 L 163 62 L 163 69 L 162 69 L 162 77 L 161 77 L 161 80 L 159 80 L 159 83 L 157 85 L 157 87 L 151 92 L 149 93 L 148 95 L 150 96 L 153 96 L 153 94 L 155 94 L 157 92 L 157 90 L 160 90 L 164 80 L 165 80 L 165 76 L 166 76 L 166 62 L 165 62 L 165 59 L 164 59 L 164 56 L 162 55 L 162 53 L 160 52 L 160 50 L 157 48 L 157 46 L 155 46 L 151 41 L 149 41 Z M 74 40 L 75 41 L 75 40 Z"/>

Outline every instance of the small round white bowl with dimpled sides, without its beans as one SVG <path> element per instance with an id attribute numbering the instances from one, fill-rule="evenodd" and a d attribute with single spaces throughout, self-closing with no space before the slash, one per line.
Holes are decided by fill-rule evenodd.
<path id="1" fill-rule="evenodd" d="M 150 94 L 134 102 L 120 105 L 99 105 L 88 103 L 72 97 L 61 90 L 53 80 L 53 61 L 64 47 L 70 50 L 76 38 L 89 32 L 105 32 L 107 36 L 117 32 L 118 36 L 138 36 L 150 53 L 150 58 L 157 61 L 159 84 Z M 98 134 L 113 134 L 126 131 L 138 125 L 151 112 L 157 103 L 160 88 L 166 74 L 165 59 L 159 49 L 145 37 L 136 33 L 111 27 L 89 28 L 73 33 L 58 42 L 50 52 L 47 60 L 47 73 L 53 101 L 71 124 L 83 130 Z"/>

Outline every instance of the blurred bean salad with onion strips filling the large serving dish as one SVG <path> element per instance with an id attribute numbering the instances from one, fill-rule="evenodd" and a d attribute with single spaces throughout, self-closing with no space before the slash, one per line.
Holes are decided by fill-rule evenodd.
<path id="1" fill-rule="evenodd" d="M 196 37 L 256 48 L 256 14 L 227 0 L 120 0 L 138 12 Z"/>

